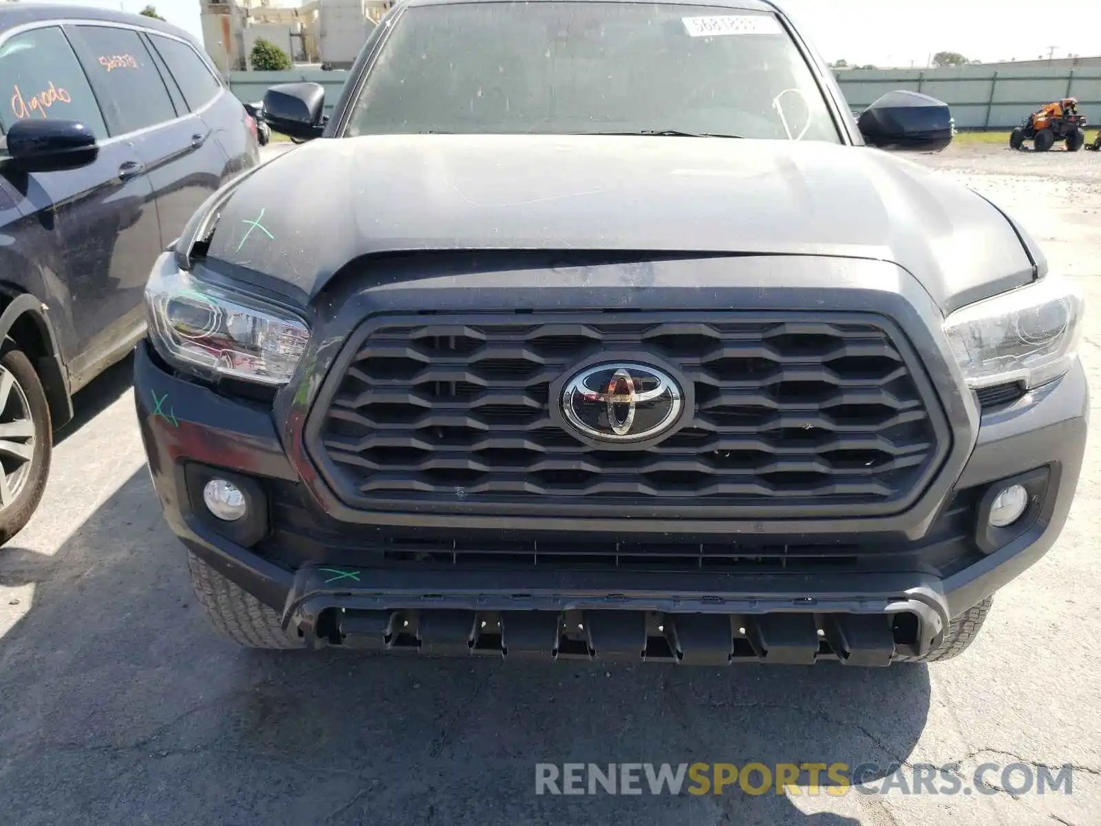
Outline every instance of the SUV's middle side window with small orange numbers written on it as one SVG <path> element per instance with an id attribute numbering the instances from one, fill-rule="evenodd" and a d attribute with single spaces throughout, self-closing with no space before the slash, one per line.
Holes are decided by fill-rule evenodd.
<path id="1" fill-rule="evenodd" d="M 77 25 L 69 32 L 111 134 L 176 117 L 161 73 L 138 32 L 99 25 Z"/>

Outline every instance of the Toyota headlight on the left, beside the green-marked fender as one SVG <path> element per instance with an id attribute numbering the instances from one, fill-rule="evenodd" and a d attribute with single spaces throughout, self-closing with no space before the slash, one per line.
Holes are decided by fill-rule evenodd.
<path id="1" fill-rule="evenodd" d="M 172 254 L 153 269 L 145 307 L 161 355 L 207 379 L 286 384 L 309 338 L 293 313 L 184 272 Z"/>

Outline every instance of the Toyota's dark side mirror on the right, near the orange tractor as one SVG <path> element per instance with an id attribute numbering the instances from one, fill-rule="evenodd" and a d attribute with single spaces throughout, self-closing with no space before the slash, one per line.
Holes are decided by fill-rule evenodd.
<path id="1" fill-rule="evenodd" d="M 857 120 L 864 143 L 903 152 L 935 152 L 952 142 L 948 105 L 916 91 L 889 91 Z"/>

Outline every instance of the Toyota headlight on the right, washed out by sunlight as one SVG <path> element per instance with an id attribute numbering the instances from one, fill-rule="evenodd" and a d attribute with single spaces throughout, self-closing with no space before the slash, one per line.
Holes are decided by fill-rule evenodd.
<path id="1" fill-rule="evenodd" d="M 1035 388 L 1070 369 L 1082 295 L 1055 275 L 952 313 L 945 334 L 972 388 L 1023 381 Z"/>

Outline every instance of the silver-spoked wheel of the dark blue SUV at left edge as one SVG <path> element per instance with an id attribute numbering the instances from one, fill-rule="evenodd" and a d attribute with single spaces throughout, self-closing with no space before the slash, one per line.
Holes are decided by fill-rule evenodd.
<path id="1" fill-rule="evenodd" d="M 31 521 L 53 456 L 50 404 L 22 350 L 0 355 L 0 544 Z"/>

